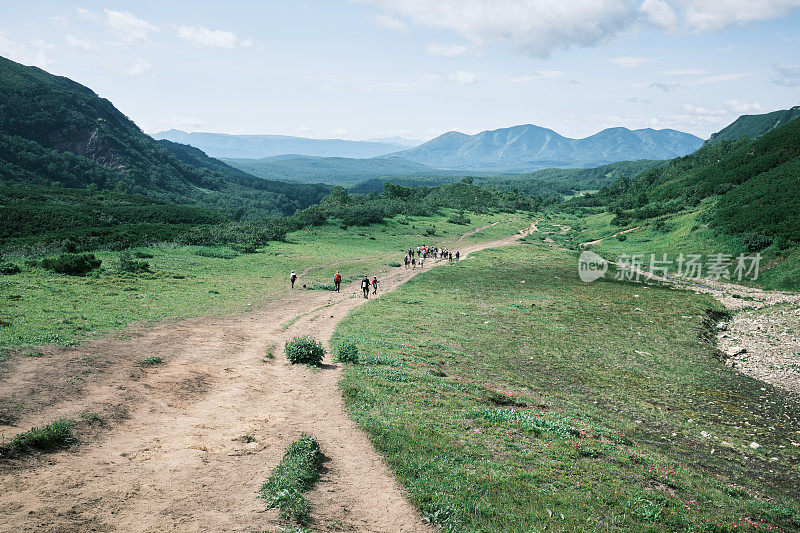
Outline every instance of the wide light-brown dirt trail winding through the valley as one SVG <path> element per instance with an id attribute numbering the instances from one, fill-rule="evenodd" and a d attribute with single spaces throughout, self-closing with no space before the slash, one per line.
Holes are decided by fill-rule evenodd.
<path id="1" fill-rule="evenodd" d="M 526 234 L 469 244 L 462 254 Z M 394 269 L 380 292 L 420 272 Z M 280 531 L 256 493 L 302 432 L 328 457 L 310 495 L 315 530 L 428 531 L 346 415 L 341 368 L 293 367 L 282 357 L 296 335 L 327 345 L 336 324 L 366 302 L 356 292 L 356 284 L 341 293 L 295 290 L 261 311 L 162 324 L 18 365 L 2 376 L 0 396 L 33 399 L 38 409 L 0 425 L 6 436 L 81 412 L 111 423 L 69 451 L 0 464 L 0 531 Z M 149 356 L 164 364 L 136 365 Z M 78 373 L 80 385 L 63 375 L 81 368 L 89 371 Z"/>

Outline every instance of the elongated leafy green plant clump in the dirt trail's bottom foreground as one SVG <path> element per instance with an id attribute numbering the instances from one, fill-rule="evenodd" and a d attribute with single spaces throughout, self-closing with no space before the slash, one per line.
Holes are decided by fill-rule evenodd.
<path id="1" fill-rule="evenodd" d="M 317 440 L 302 435 L 286 449 L 283 459 L 261 486 L 261 497 L 280 517 L 300 525 L 311 519 L 311 508 L 303 493 L 319 479 L 322 451 Z"/>

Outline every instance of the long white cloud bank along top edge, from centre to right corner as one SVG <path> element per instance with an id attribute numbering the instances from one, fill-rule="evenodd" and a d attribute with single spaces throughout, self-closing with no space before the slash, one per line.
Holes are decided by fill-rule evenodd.
<path id="1" fill-rule="evenodd" d="M 510 42 L 537 57 L 595 46 L 645 21 L 669 32 L 699 33 L 770 20 L 800 0 L 354 0 L 378 6 L 379 26 L 408 31 L 406 22 L 453 30 L 475 44 Z"/>

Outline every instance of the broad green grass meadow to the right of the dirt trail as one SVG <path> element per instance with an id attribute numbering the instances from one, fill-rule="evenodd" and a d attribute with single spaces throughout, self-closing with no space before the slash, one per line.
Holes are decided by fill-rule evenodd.
<path id="1" fill-rule="evenodd" d="M 347 409 L 445 530 L 798 530 L 800 410 L 719 362 L 718 310 L 526 245 L 417 276 L 331 342 L 356 342 Z"/>

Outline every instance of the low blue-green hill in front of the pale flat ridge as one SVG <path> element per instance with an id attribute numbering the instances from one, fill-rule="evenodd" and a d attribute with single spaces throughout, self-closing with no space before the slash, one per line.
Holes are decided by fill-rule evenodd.
<path id="1" fill-rule="evenodd" d="M 434 172 L 430 167 L 400 158 L 279 155 L 262 159 L 226 159 L 225 162 L 260 178 L 332 185 L 352 185 L 374 178 Z"/>

